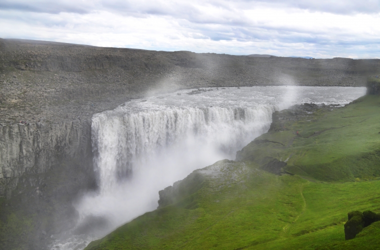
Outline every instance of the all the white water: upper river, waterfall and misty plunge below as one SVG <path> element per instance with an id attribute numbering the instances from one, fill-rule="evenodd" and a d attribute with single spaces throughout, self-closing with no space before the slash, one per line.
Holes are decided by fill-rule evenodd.
<path id="1" fill-rule="evenodd" d="M 304 102 L 346 104 L 365 93 L 364 87 L 203 90 L 134 99 L 93 115 L 92 146 L 99 190 L 75 204 L 83 235 L 55 245 L 74 249 L 83 240 L 88 243 L 155 209 L 158 190 L 194 169 L 223 158 L 234 159 L 237 150 L 267 131 L 275 110 Z"/>

